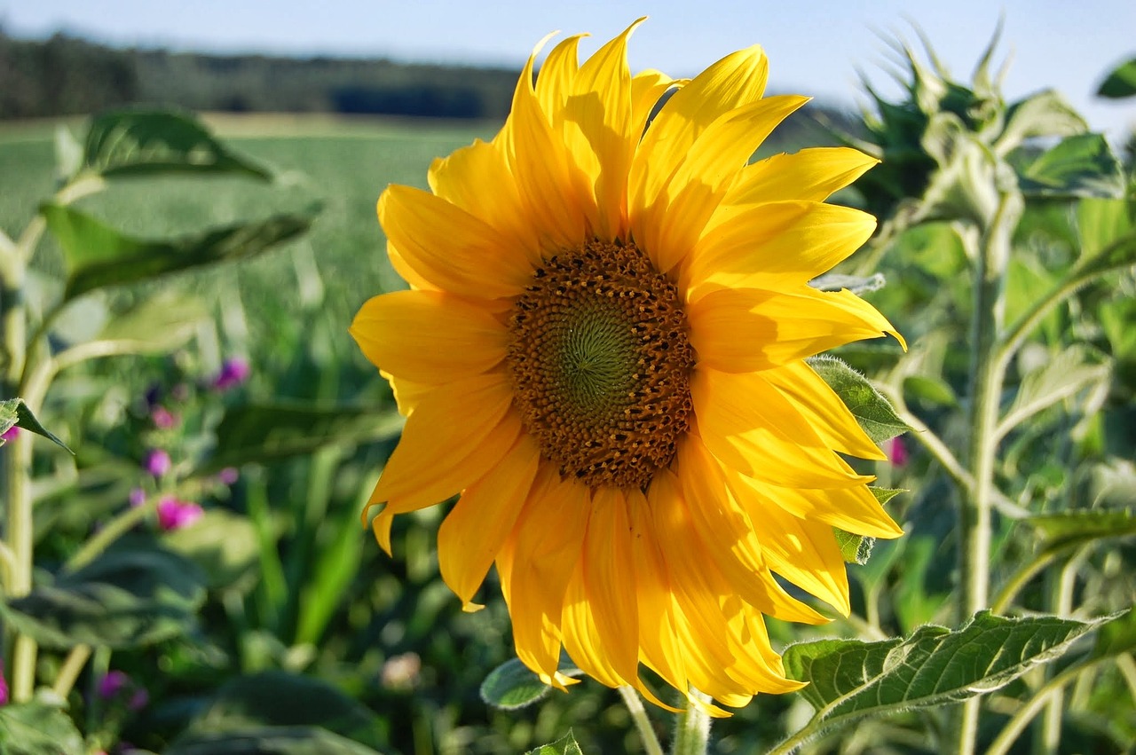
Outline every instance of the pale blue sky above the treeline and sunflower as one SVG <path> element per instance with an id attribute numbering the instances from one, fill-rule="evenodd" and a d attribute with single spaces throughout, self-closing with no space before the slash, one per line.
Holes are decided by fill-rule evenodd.
<path id="1" fill-rule="evenodd" d="M 294 54 L 383 56 L 401 60 L 518 67 L 554 30 L 591 32 L 591 45 L 641 15 L 650 20 L 630 45 L 634 69 L 688 76 L 733 50 L 765 47 L 770 86 L 855 103 L 858 72 L 888 89 L 883 37 L 930 37 L 958 78 L 969 78 L 999 20 L 999 60 L 1009 57 L 1009 99 L 1053 87 L 1096 129 L 1119 139 L 1136 128 L 1136 104 L 1093 97 L 1104 73 L 1136 56 L 1133 0 L 980 0 L 914 2 L 768 2 L 685 0 L 0 0 L 8 34 L 55 31 L 116 44 Z"/>

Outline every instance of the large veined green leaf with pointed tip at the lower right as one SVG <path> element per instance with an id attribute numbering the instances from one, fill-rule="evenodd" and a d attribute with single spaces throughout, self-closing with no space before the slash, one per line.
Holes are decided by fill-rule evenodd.
<path id="1" fill-rule="evenodd" d="M 785 670 L 810 682 L 800 694 L 817 710 L 818 729 L 832 729 L 993 691 L 1110 620 L 1006 619 L 982 611 L 954 631 L 927 624 L 908 639 L 792 645 Z"/>

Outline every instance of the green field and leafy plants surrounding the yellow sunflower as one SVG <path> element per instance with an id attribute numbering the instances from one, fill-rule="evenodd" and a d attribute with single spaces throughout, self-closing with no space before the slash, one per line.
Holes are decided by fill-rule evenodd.
<path id="1" fill-rule="evenodd" d="M 1136 738 L 1136 626 L 1130 611 L 1118 615 L 1136 594 L 1133 166 L 1053 93 L 1003 102 L 989 56 L 961 84 L 933 57 L 900 52 L 905 97 L 877 98 L 854 140 L 884 165 L 838 199 L 884 221 L 843 272 L 861 284 L 885 275 L 864 295 L 911 349 L 841 356 L 891 400 L 896 426 L 913 428 L 907 463 L 874 469 L 883 487 L 910 490 L 887 503 L 908 534 L 850 567 L 853 615 L 820 630 L 828 639 L 770 622 L 779 646 L 800 643 L 786 652 L 790 672 L 816 683 L 716 723 L 710 747 L 1005 752 L 1017 738 L 1016 752 L 1112 752 Z M 14 702 L 0 707 L 0 741 L 30 753 L 119 741 L 168 753 L 512 753 L 552 740 L 557 753 L 577 741 L 641 752 L 651 737 L 594 682 L 519 711 L 486 705 L 524 696 L 531 679 L 481 688 L 509 657 L 507 614 L 493 585 L 477 614 L 442 585 L 441 510 L 399 518 L 394 560 L 359 527 L 400 427 L 345 335 L 366 297 L 399 285 L 375 196 L 386 183 L 423 185 L 434 157 L 496 125 L 325 126 L 222 143 L 187 116 L 133 111 L 75 133 L 124 127 L 160 149 L 135 135 L 111 142 L 131 148 L 115 158 L 99 140 L 43 128 L 0 135 L 0 175 L 19 176 L 18 191 L 0 192 L 10 241 L 0 302 L 9 313 L 19 304 L 28 346 L 14 360 L 5 332 L 2 399 L 27 400 L 75 451 L 26 433 L 0 448 L 9 514 L 17 495 L 34 504 L 36 569 L 30 593 L 6 574 Z M 208 167 L 178 158 L 177 133 L 208 140 Z M 273 236 L 241 229 L 265 227 L 294 230 L 253 259 L 256 240 Z M 107 259 L 117 265 L 98 265 Z M 976 297 L 976 276 L 992 269 L 992 299 Z M 986 317 L 1001 337 L 975 337 Z M 229 354 L 249 358 L 249 383 L 209 391 Z M 1004 369 L 976 401 L 992 355 Z M 156 438 L 144 395 L 186 384 L 181 425 Z M 979 405 L 992 418 L 977 444 L 985 456 L 974 453 Z M 160 486 L 207 509 L 170 532 L 153 526 L 160 486 L 145 505 L 126 503 L 159 439 L 175 455 Z M 240 479 L 218 486 L 227 467 Z M 14 495 L 20 469 L 32 484 Z M 976 527 L 986 545 L 975 545 Z M 975 553 L 986 556 L 977 569 Z M 976 572 L 986 596 L 957 588 Z M 17 669 L 18 635 L 39 652 Z M 960 645 L 977 658 L 961 671 L 949 663 Z M 921 673 L 899 673 L 899 657 L 919 658 Z M 862 672 L 830 671 L 850 661 Z M 111 669 L 150 703 L 100 697 Z M 980 702 L 962 711 L 964 699 Z M 666 716 L 643 715 L 667 736 Z"/>

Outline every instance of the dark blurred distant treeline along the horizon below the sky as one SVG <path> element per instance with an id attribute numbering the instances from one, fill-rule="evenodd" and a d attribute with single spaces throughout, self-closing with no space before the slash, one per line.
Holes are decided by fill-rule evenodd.
<path id="1" fill-rule="evenodd" d="M 503 119 L 517 70 L 386 59 L 215 56 L 117 49 L 0 30 L 0 119 L 82 115 L 144 103 L 227 112 L 342 112 Z M 812 106 L 811 116 L 850 125 Z M 805 126 L 801 119 L 794 125 Z"/>

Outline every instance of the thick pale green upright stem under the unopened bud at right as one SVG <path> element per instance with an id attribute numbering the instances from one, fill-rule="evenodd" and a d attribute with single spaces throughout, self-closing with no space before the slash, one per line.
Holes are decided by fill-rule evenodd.
<path id="1" fill-rule="evenodd" d="M 963 234 L 963 243 L 977 244 L 975 297 L 970 332 L 970 444 L 967 465 L 974 485 L 959 495 L 959 584 L 962 597 L 958 623 L 985 609 L 989 602 L 991 510 L 996 494 L 997 421 L 1005 362 L 997 358 L 1005 319 L 1005 276 L 1010 238 L 1021 215 L 1022 199 L 1016 188 L 1003 187 L 997 209 L 985 228 Z M 980 698 L 972 697 L 959 712 L 959 755 L 972 755 L 978 736 Z"/>

